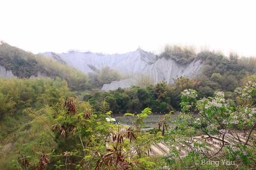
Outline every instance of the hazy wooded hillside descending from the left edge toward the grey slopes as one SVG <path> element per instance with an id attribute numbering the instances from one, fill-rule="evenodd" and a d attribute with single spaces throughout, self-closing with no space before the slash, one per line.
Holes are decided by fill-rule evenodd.
<path id="1" fill-rule="evenodd" d="M 37 76 L 39 71 L 52 79 L 60 77 L 66 80 L 72 91 L 90 89 L 89 78 L 81 71 L 56 60 L 45 58 L 43 55 L 34 55 L 12 47 L 3 41 L 1 43 L 0 65 L 6 70 L 12 70 L 15 76 L 29 78 L 32 75 Z"/>

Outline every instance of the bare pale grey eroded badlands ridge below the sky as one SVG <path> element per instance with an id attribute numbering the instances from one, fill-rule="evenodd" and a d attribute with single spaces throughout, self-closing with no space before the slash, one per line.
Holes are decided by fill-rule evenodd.
<path id="1" fill-rule="evenodd" d="M 40 53 L 47 57 L 67 63 L 74 68 L 88 74 L 94 72 L 93 68 L 101 70 L 102 67 L 108 66 L 110 69 L 117 69 L 122 73 L 134 74 L 135 77 L 114 81 L 110 84 L 104 84 L 101 92 L 115 90 L 118 87 L 129 88 L 134 86 L 136 77 L 140 74 L 148 74 L 154 78 L 155 83 L 162 80 L 168 84 L 174 83 L 172 78 L 180 76 L 194 77 L 200 73 L 202 61 L 195 59 L 192 63 L 186 65 L 177 64 L 174 60 L 165 58 L 158 59 L 155 63 L 150 64 L 154 54 L 145 52 L 141 49 L 125 54 L 98 55 L 97 53 L 82 53 L 70 51 L 68 53 L 56 54 L 52 52 Z"/>

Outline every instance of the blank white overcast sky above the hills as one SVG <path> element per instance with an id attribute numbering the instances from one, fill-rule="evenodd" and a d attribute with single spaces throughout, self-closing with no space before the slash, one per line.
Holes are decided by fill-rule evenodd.
<path id="1" fill-rule="evenodd" d="M 256 1 L 0 0 L 0 41 L 32 53 L 113 54 L 165 44 L 256 56 Z"/>

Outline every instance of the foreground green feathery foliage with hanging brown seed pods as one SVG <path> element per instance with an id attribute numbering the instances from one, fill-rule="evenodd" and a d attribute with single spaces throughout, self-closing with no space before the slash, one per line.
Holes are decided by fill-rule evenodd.
<path id="1" fill-rule="evenodd" d="M 144 125 L 143 119 L 151 113 L 149 108 L 136 116 L 130 114 L 135 117 L 133 125 L 123 127 L 106 121 L 106 117 L 111 118 L 110 112 L 99 117 L 92 114 L 91 110 L 78 113 L 72 99 L 67 98 L 64 107 L 64 115 L 55 119 L 56 123 L 51 126 L 56 148 L 48 153 L 45 150 L 39 152 L 39 162 L 30 161 L 28 156 L 20 152 L 18 163 L 21 167 L 31 166 L 34 170 L 62 169 L 62 166 L 81 170 L 147 170 L 154 167 L 155 164 L 145 156 L 150 155 L 153 142 L 163 139 L 163 133 L 140 132 L 140 125 Z"/>

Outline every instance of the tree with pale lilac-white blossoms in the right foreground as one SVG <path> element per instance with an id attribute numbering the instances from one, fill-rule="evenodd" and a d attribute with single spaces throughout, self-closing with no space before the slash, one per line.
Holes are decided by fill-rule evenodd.
<path id="1" fill-rule="evenodd" d="M 235 90 L 238 106 L 223 92 L 200 100 L 195 90 L 182 92 L 180 121 L 164 134 L 170 168 L 256 169 L 256 76 L 250 78 Z"/>

